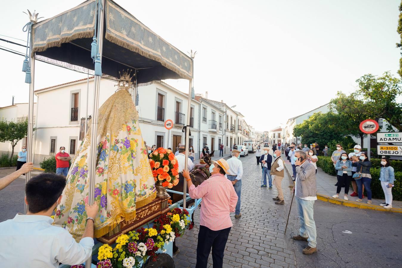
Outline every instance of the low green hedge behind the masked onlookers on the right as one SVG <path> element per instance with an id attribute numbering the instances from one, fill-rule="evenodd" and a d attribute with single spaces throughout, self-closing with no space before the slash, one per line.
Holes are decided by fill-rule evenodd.
<path id="1" fill-rule="evenodd" d="M 374 164 L 375 162 L 378 161 L 378 164 Z M 316 162 L 317 166 L 322 168 L 322 170 L 325 173 L 328 173 L 330 175 L 336 176 L 334 164 L 331 161 L 331 158 L 329 156 L 318 156 L 318 161 Z M 381 187 L 381 182 L 378 180 L 379 178 L 379 172 L 381 168 L 379 168 L 379 159 L 373 159 L 371 162 L 373 164 L 374 168 L 370 169 L 371 173 L 371 192 L 372 192 L 372 197 L 373 198 L 380 198 L 384 199 L 384 191 L 382 190 Z M 402 170 L 400 168 L 400 163 L 401 161 L 398 160 L 392 160 L 391 161 L 391 166 L 395 164 L 394 170 L 395 170 L 395 182 L 394 182 L 394 187 L 392 188 L 392 198 L 394 200 L 402 200 Z M 398 168 L 398 167 L 399 168 Z M 366 194 L 367 196 L 367 194 Z"/>

